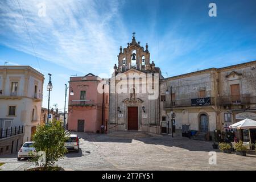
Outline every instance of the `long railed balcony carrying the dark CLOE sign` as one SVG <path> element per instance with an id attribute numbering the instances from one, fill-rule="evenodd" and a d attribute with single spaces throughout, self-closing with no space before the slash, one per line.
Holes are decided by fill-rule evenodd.
<path id="1" fill-rule="evenodd" d="M 199 102 L 195 103 L 194 100 L 205 100 L 204 102 Z M 214 104 L 214 97 L 207 97 L 207 98 L 193 98 L 193 99 L 183 99 L 183 100 L 175 100 L 172 101 L 164 101 L 163 102 L 163 107 L 164 109 L 166 108 L 171 108 L 172 107 L 187 107 L 187 106 L 205 106 L 205 105 L 215 105 Z"/>

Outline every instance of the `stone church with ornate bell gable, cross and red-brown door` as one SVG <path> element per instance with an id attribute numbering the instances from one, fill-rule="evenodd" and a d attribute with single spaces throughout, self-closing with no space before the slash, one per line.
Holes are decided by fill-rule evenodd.
<path id="1" fill-rule="evenodd" d="M 109 130 L 137 130 L 160 133 L 160 68 L 150 60 L 135 36 L 126 48 L 120 47 L 118 65 L 110 78 Z"/>

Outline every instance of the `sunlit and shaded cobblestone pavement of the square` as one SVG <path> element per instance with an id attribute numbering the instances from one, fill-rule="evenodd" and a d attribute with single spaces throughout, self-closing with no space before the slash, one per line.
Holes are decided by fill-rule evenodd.
<path id="1" fill-rule="evenodd" d="M 117 138 L 104 134 L 78 133 L 80 152 L 70 152 L 57 162 L 72 170 L 256 170 L 256 155 L 217 153 L 209 164 L 212 142 L 169 135 L 150 138 Z M 28 162 L 16 156 L 0 156 L 2 170 L 24 170 Z"/>

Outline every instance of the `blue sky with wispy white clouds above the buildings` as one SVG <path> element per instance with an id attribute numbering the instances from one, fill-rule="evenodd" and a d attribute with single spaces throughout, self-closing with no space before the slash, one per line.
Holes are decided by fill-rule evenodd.
<path id="1" fill-rule="evenodd" d="M 217 16 L 210 17 L 209 3 Z M 44 11 L 45 10 L 45 11 Z M 0 65 L 43 73 L 43 107 L 64 111 L 70 76 L 108 78 L 132 33 L 163 76 L 256 60 L 255 0 L 0 1 Z M 67 108 L 67 107 L 66 107 Z"/>

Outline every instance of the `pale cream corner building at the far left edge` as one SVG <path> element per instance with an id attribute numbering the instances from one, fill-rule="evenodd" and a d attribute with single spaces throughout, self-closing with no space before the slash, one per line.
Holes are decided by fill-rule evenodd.
<path id="1" fill-rule="evenodd" d="M 43 82 L 44 75 L 29 66 L 0 66 L 0 118 L 10 119 L 8 127 L 24 126 L 23 142 L 39 124 Z"/>

